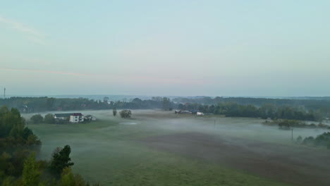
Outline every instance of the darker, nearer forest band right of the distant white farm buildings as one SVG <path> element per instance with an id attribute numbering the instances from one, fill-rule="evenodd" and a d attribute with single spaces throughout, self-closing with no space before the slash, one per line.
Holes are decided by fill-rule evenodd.
<path id="1" fill-rule="evenodd" d="M 320 120 L 314 111 L 295 109 L 289 106 L 274 106 L 264 104 L 262 106 L 243 105 L 235 102 L 224 102 L 216 105 L 202 104 L 179 104 L 178 109 L 198 110 L 204 113 L 221 114 L 228 117 L 247 117 L 247 118 L 282 118 L 290 120 Z"/>

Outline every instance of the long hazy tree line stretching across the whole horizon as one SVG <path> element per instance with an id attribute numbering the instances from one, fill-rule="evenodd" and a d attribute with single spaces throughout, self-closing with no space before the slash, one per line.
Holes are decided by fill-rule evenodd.
<path id="1" fill-rule="evenodd" d="M 322 108 L 324 108 L 322 107 L 324 103 L 330 108 L 330 102 L 328 103 L 320 100 L 222 97 L 216 97 L 214 99 L 209 97 L 198 99 L 173 99 L 172 101 L 166 97 L 152 97 L 152 99 L 148 100 L 135 98 L 128 102 L 108 100 L 109 99 L 106 97 L 102 101 L 83 98 L 56 99 L 49 97 L 11 97 L 8 99 L 0 99 L 0 105 L 6 103 L 9 107 L 15 107 L 19 109 L 19 111 L 27 113 L 84 109 L 163 109 L 169 111 L 171 111 L 171 109 L 182 109 L 223 114 L 229 117 L 283 118 L 291 120 L 322 120 L 322 117 L 330 115 L 330 113 L 327 113 L 326 109 L 322 110 Z M 180 103 L 176 101 L 191 102 Z M 301 101 L 312 101 L 314 104 L 306 104 Z M 200 104 L 200 102 L 204 104 Z M 304 103 L 305 105 L 300 105 Z M 307 109 L 307 107 L 312 109 Z"/>

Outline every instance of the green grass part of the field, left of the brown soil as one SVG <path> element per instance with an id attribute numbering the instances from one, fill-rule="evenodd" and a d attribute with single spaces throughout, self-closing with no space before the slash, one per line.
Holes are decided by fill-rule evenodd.
<path id="1" fill-rule="evenodd" d="M 119 124 L 128 120 L 111 116 L 111 111 L 84 113 L 92 113 L 98 120 L 66 125 L 30 124 L 42 140 L 39 159 L 50 159 L 56 147 L 69 144 L 75 162 L 73 171 L 101 185 L 285 185 L 225 166 L 157 151 L 139 142 L 143 137 L 198 129 L 183 125 L 174 130 L 173 125 L 180 122 L 173 123 L 177 116 L 169 113 L 159 111 L 148 115 L 147 111 L 140 114 L 133 111 L 135 115 L 129 121 L 137 125 Z M 170 120 L 165 120 L 166 117 Z M 181 120 L 186 123 L 189 118 Z"/>

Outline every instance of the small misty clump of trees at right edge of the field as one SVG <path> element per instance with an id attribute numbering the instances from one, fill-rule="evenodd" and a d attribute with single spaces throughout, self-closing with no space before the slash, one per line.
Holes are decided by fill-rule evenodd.
<path id="1" fill-rule="evenodd" d="M 330 132 L 324 132 L 317 137 L 305 137 L 303 140 L 301 136 L 298 136 L 296 142 L 298 144 L 305 144 L 312 147 L 326 147 L 327 149 L 330 149 Z"/>

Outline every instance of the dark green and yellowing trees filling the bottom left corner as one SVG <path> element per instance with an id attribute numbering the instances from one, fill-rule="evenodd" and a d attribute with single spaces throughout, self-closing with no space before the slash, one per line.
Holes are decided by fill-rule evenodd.
<path id="1" fill-rule="evenodd" d="M 71 148 L 56 148 L 50 161 L 36 161 L 41 141 L 25 126 L 18 109 L 0 108 L 1 186 L 87 186 L 71 171 Z"/>

